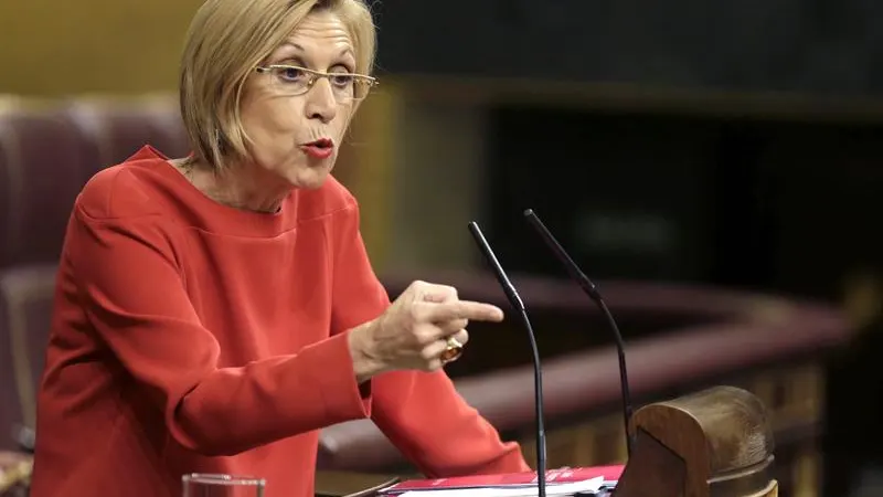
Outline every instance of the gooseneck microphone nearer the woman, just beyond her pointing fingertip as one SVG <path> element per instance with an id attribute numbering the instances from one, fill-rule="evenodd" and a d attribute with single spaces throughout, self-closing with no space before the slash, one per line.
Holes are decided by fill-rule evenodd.
<path id="1" fill-rule="evenodd" d="M 512 285 L 512 282 L 509 281 L 509 276 L 506 275 L 503 266 L 500 265 L 497 256 L 493 255 L 493 250 L 490 247 L 490 244 L 488 244 L 488 241 L 485 240 L 485 235 L 481 233 L 481 229 L 478 228 L 478 223 L 475 221 L 469 223 L 469 232 L 472 233 L 478 248 L 485 254 L 488 264 L 493 268 L 493 274 L 497 276 L 497 281 L 500 282 L 500 286 L 503 288 L 509 304 L 521 315 L 521 320 L 524 324 L 524 328 L 528 330 L 528 338 L 531 340 L 531 351 L 533 352 L 533 403 L 536 409 L 536 491 L 539 497 L 545 497 L 546 465 L 545 424 L 543 422 L 543 371 L 540 367 L 540 349 L 536 347 L 536 336 L 533 334 L 533 326 L 528 317 L 524 303 L 518 295 L 518 290 L 514 285 Z"/>

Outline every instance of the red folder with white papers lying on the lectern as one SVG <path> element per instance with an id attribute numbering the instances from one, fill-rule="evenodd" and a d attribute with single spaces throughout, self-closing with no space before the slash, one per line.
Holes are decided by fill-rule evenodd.
<path id="1" fill-rule="evenodd" d="M 545 473 L 546 485 L 584 482 L 598 476 L 604 482 L 617 482 L 625 466 L 564 467 Z M 530 487 L 536 485 L 536 472 L 506 473 L 499 475 L 457 476 L 453 478 L 409 479 L 380 490 L 381 495 L 397 495 L 411 490 L 439 490 L 487 488 L 487 487 Z"/>

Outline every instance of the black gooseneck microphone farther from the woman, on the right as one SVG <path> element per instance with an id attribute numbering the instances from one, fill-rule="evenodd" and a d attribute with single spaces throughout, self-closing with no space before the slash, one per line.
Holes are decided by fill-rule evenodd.
<path id="1" fill-rule="evenodd" d="M 613 314 L 610 314 L 610 309 L 607 308 L 607 303 L 604 302 L 604 297 L 600 296 L 600 292 L 598 292 L 597 286 L 592 283 L 592 279 L 583 273 L 583 269 L 576 265 L 575 262 L 567 255 L 567 252 L 564 250 L 563 246 L 555 240 L 555 236 L 552 235 L 552 232 L 545 228 L 540 218 L 533 212 L 533 209 L 528 209 L 524 211 L 524 218 L 528 219 L 528 222 L 531 226 L 534 228 L 536 233 L 540 237 L 543 239 L 546 246 L 555 254 L 555 257 L 564 265 L 564 268 L 567 269 L 567 274 L 571 275 L 571 278 L 583 288 L 583 292 L 598 305 L 600 311 L 604 313 L 604 317 L 607 319 L 607 324 L 610 326 L 610 329 L 614 332 L 614 340 L 616 341 L 616 352 L 619 356 L 619 383 L 620 389 L 623 390 L 623 417 L 626 424 L 626 450 L 628 451 L 628 455 L 631 456 L 631 436 L 628 433 L 628 425 L 629 421 L 631 420 L 631 394 L 629 393 L 628 388 L 628 370 L 626 368 L 626 343 L 623 341 L 623 335 L 619 332 L 619 326 L 616 324 L 616 319 L 614 319 Z"/>

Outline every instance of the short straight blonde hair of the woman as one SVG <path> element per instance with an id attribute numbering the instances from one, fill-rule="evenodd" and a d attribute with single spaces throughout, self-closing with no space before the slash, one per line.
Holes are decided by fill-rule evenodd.
<path id="1" fill-rule="evenodd" d="M 364 0 L 206 0 L 187 34 L 180 105 L 193 159 L 214 170 L 230 156 L 247 159 L 240 105 L 245 81 L 310 12 L 336 13 L 355 52 L 355 72 L 371 74 L 376 32 Z"/>

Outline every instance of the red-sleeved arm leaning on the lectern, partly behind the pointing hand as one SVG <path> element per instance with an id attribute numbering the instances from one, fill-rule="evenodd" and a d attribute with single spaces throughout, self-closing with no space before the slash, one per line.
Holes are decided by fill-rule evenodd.
<path id="1" fill-rule="evenodd" d="M 372 320 L 389 306 L 359 234 L 358 209 L 351 214 L 341 218 L 347 224 L 334 264 L 333 322 L 340 330 Z M 372 420 L 427 476 L 531 470 L 518 444 L 502 443 L 444 371 L 389 372 L 372 383 Z"/>

